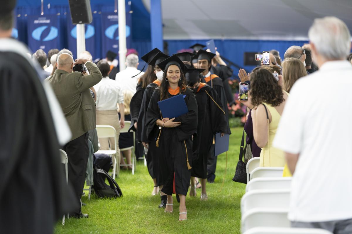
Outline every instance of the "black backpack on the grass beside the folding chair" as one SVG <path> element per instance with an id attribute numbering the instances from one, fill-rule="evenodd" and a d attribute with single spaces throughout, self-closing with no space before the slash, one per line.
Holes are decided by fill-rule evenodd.
<path id="1" fill-rule="evenodd" d="M 106 155 L 100 154 L 98 157 L 97 155 L 94 155 L 94 171 L 93 171 L 94 186 L 92 186 L 92 188 L 94 188 L 94 192 L 100 198 L 121 197 L 122 192 L 117 182 L 105 170 L 99 168 L 102 165 L 102 162 L 105 165 L 111 165 L 110 156 L 107 154 Z M 105 179 L 108 181 L 109 185 L 105 183 Z"/>

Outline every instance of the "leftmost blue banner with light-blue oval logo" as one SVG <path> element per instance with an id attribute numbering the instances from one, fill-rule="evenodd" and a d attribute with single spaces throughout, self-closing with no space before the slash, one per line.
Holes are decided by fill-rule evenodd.
<path id="1" fill-rule="evenodd" d="M 59 47 L 59 31 L 57 15 L 28 16 L 28 46 L 32 52 Z"/>

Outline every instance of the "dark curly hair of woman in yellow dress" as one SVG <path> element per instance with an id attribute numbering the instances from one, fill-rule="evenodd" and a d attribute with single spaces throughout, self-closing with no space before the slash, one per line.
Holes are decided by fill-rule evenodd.
<path id="1" fill-rule="evenodd" d="M 251 73 L 250 94 L 253 106 L 259 106 L 263 102 L 279 106 L 285 101 L 281 86 L 271 72 L 264 68 L 254 68 Z"/>

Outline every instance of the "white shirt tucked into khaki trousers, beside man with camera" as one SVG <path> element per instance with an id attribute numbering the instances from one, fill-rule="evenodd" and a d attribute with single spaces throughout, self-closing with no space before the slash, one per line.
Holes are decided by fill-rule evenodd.
<path id="1" fill-rule="evenodd" d="M 115 80 L 108 76 L 101 79 L 94 86 L 96 92 L 96 110 L 113 111 L 117 110 L 117 104 L 124 103 L 124 95 Z"/>

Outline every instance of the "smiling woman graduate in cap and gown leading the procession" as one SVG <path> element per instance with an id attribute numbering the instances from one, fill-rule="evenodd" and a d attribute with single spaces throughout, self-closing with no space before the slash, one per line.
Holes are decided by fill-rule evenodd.
<path id="1" fill-rule="evenodd" d="M 161 85 L 155 89 L 147 109 L 146 125 L 149 140 L 157 139 L 165 157 L 169 176 L 162 192 L 168 195 L 165 212 L 172 212 L 172 193 L 180 196 L 179 220 L 187 220 L 186 195 L 191 178 L 192 138 L 197 130 L 198 106 L 193 91 L 186 86 L 184 64 L 177 55 L 157 64 L 164 71 Z M 188 113 L 176 118 L 163 118 L 158 101 L 184 95 Z"/>

